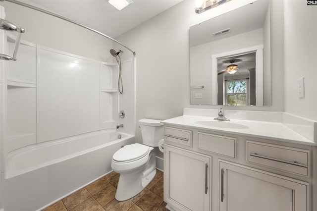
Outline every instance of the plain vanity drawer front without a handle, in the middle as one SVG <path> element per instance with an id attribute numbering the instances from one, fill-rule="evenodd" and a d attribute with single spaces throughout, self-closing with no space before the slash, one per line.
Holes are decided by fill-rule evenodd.
<path id="1" fill-rule="evenodd" d="M 236 138 L 197 132 L 198 149 L 236 158 Z"/>

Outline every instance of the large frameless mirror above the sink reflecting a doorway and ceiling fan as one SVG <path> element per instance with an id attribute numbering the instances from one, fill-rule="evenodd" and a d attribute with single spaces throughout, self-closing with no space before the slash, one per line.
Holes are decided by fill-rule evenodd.
<path id="1" fill-rule="evenodd" d="M 270 106 L 269 0 L 190 27 L 192 105 Z"/>

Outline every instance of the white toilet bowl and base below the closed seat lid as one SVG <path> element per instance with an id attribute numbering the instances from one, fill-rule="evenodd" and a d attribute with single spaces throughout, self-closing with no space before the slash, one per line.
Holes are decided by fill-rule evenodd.
<path id="1" fill-rule="evenodd" d="M 143 167 L 144 168 L 144 167 Z M 144 170 L 120 173 L 115 199 L 125 201 L 140 193 L 155 177 L 157 173 L 154 152 L 150 153 L 149 162 Z"/>

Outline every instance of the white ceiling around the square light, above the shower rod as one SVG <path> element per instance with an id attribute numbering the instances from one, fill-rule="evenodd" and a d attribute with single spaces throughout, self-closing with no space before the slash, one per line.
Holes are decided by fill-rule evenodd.
<path id="1" fill-rule="evenodd" d="M 107 0 L 20 0 L 115 38 L 182 0 L 133 0 L 118 11 Z"/>

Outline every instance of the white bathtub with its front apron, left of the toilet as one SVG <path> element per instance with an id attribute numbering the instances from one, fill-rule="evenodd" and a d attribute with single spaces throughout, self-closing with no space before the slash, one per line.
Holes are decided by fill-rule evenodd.
<path id="1" fill-rule="evenodd" d="M 9 153 L 1 173 L 4 211 L 42 210 L 109 173 L 112 155 L 132 143 L 134 135 L 105 130 Z"/>

